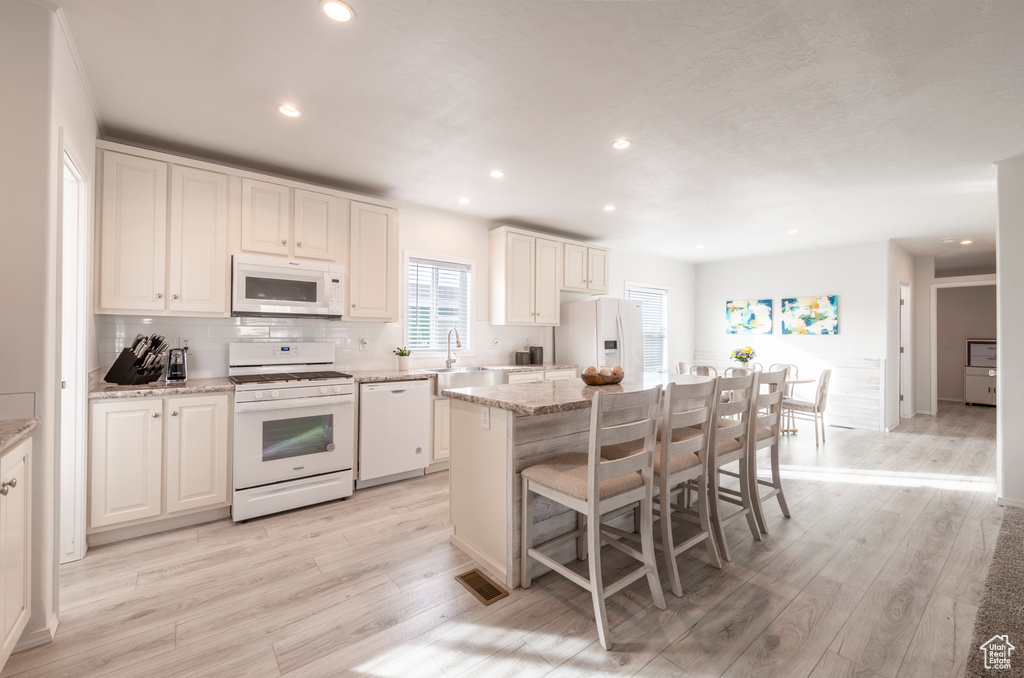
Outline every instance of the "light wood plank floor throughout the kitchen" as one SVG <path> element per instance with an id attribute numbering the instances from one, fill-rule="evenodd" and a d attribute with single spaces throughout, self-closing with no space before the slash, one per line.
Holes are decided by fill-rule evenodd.
<path id="1" fill-rule="evenodd" d="M 891 434 L 804 428 L 782 447 L 793 517 L 684 556 L 685 597 L 609 602 L 549 574 L 489 607 L 454 580 L 447 474 L 236 525 L 95 548 L 61 568 L 50 645 L 3 676 L 954 676 L 1001 510 L 995 411 L 941 404 Z M 606 562 L 617 552 L 605 548 Z M 664 579 L 664 578 L 663 578 Z"/>

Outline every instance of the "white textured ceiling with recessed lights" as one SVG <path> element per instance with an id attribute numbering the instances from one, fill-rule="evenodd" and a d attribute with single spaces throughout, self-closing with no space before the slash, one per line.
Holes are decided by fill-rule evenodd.
<path id="1" fill-rule="evenodd" d="M 1024 152 L 1024 2 L 350 4 L 62 7 L 109 136 L 688 261 L 994 249 Z"/>

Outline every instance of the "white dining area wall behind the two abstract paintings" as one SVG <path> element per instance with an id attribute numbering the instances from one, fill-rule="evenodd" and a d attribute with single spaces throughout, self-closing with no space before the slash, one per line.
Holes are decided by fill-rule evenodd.
<path id="1" fill-rule="evenodd" d="M 888 350 L 890 277 L 888 243 L 699 264 L 695 358 L 726 366 L 733 348 L 751 345 L 764 367 L 793 363 L 800 368 L 801 377 L 817 377 L 826 368 L 842 366 L 833 373 L 829 410 L 841 420 L 863 421 L 866 417 L 871 421 L 848 425 L 877 429 L 885 398 L 883 375 L 878 370 L 884 366 Z M 828 294 L 839 295 L 838 335 L 781 334 L 781 298 Z M 726 334 L 725 302 L 736 299 L 772 299 L 774 333 Z M 869 374 L 872 369 L 873 375 Z M 841 394 L 847 388 L 844 382 L 861 378 L 868 382 L 865 387 L 850 386 L 849 393 Z M 813 390 L 808 386 L 798 393 L 810 398 Z M 853 393 L 854 388 L 869 392 Z M 858 410 L 871 414 L 862 415 Z"/>

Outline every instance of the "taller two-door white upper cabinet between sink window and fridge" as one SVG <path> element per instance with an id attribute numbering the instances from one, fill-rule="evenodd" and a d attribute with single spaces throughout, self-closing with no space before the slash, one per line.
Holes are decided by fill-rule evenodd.
<path id="1" fill-rule="evenodd" d="M 507 227 L 490 231 L 490 324 L 558 325 L 561 243 Z"/>

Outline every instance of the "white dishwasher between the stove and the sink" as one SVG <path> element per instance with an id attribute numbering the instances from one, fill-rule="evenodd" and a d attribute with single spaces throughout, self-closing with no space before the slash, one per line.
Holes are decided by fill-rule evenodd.
<path id="1" fill-rule="evenodd" d="M 430 463 L 430 381 L 359 386 L 356 488 L 423 475 Z"/>

